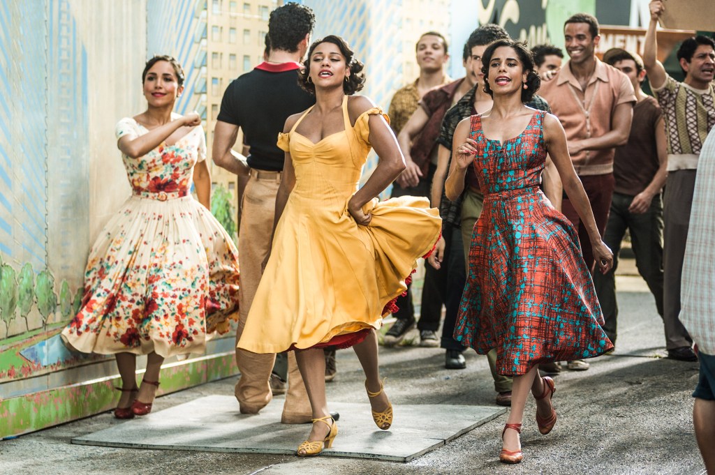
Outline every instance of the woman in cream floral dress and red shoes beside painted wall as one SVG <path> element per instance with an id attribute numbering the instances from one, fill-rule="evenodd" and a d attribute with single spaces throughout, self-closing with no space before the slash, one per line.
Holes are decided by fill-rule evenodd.
<path id="1" fill-rule="evenodd" d="M 62 331 L 84 353 L 115 354 L 122 396 L 114 416 L 149 413 L 164 358 L 202 353 L 238 309 L 238 253 L 211 215 L 198 114 L 174 114 L 184 72 L 154 56 L 142 74 L 148 108 L 117 124 L 132 196 L 92 246 L 82 307 Z M 192 179 L 198 202 L 189 194 Z M 137 355 L 147 355 L 137 388 Z"/>

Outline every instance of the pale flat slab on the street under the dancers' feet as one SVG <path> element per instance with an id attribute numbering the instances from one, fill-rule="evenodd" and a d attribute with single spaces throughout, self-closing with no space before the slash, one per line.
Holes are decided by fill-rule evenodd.
<path id="1" fill-rule="evenodd" d="M 295 454 L 310 425 L 280 423 L 282 404 L 240 414 L 233 396 L 206 396 L 137 417 L 73 444 L 254 454 Z M 340 412 L 332 449 L 322 456 L 408 462 L 484 424 L 506 409 L 495 406 L 395 405 L 393 427 L 381 431 L 370 404 L 331 403 Z"/>

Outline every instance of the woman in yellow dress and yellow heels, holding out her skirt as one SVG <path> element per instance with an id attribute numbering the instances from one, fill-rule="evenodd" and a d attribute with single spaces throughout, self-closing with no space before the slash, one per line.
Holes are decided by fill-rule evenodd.
<path id="1" fill-rule="evenodd" d="M 325 346 L 355 349 L 375 424 L 389 429 L 375 330 L 440 233 L 427 199 L 376 198 L 405 161 L 387 116 L 352 96 L 363 89 L 362 69 L 338 36 L 310 46 L 302 84 L 316 103 L 290 116 L 278 139 L 286 153 L 271 254 L 238 343 L 255 353 L 296 351 L 313 413 L 298 456 L 320 454 L 337 435 L 325 398 Z M 370 148 L 380 160 L 358 189 Z"/>

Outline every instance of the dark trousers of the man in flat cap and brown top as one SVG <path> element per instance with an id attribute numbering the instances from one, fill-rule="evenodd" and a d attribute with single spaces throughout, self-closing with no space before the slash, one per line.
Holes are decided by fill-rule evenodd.
<path id="1" fill-rule="evenodd" d="M 603 242 L 613 251 L 613 269 L 607 274 L 593 273 L 593 285 L 596 286 L 598 301 L 603 310 L 603 331 L 613 344 L 616 343 L 616 323 L 618 320 L 618 304 L 616 302 L 616 268 L 618 267 L 618 252 L 621 251 L 621 241 L 626 230 L 631 235 L 633 254 L 636 255 L 638 274 L 648 284 L 656 299 L 658 314 L 663 316 L 663 203 L 661 195 L 654 197 L 651 206 L 643 214 L 633 214 L 628 211 L 634 196 L 613 193 L 611 212 L 608 214 L 606 233 Z M 666 334 L 666 339 L 667 339 Z"/>

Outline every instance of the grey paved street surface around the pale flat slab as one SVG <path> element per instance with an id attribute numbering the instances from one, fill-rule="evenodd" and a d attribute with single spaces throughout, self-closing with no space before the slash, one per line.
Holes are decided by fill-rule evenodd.
<path id="1" fill-rule="evenodd" d="M 624 263 L 626 264 L 626 263 Z M 498 461 L 506 415 L 408 464 L 363 459 L 193 451 L 112 449 L 70 444 L 74 436 L 121 424 L 100 414 L 0 442 L 0 474 L 702 474 L 691 422 L 698 365 L 665 359 L 663 327 L 644 282 L 619 276 L 619 338 L 611 356 L 591 369 L 555 377 L 558 422 L 541 436 L 526 406 L 524 461 Z M 484 356 L 468 351 L 468 368 L 443 368 L 440 349 L 381 348 L 386 389 L 393 404 L 493 404 Z M 352 351 L 339 351 L 331 401 L 366 399 Z M 236 379 L 205 384 L 157 399 L 155 411 L 200 396 L 232 394 Z M 280 404 L 277 398 L 272 404 Z M 395 424 L 400 424 L 395 420 Z M 309 426 L 305 426 L 305 433 Z M 388 439 L 389 440 L 389 439 Z M 295 445 L 300 440 L 295 441 Z M 340 444 L 340 435 L 335 445 Z"/>

